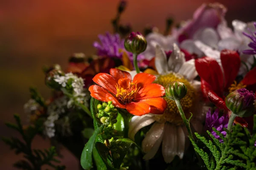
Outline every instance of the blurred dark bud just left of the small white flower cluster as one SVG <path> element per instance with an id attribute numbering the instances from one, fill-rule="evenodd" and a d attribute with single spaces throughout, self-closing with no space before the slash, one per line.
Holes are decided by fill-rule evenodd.
<path id="1" fill-rule="evenodd" d="M 54 80 L 56 75 L 63 76 L 64 72 L 62 72 L 60 69 L 52 69 L 45 76 L 45 84 L 52 89 L 59 89 L 59 87 L 61 86 L 58 82 Z"/>

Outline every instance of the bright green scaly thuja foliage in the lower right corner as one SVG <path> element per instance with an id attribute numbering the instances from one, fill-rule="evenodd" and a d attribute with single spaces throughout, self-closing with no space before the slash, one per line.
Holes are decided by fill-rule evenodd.
<path id="1" fill-rule="evenodd" d="M 233 126 L 230 133 L 226 130 L 228 138 L 225 138 L 218 130 L 215 133 L 223 139 L 220 143 L 209 131 L 210 140 L 195 133 L 196 137 L 204 143 L 207 149 L 201 149 L 191 140 L 195 151 L 204 160 L 208 170 L 256 170 L 256 115 L 254 115 L 254 127 L 252 135 L 247 128 L 240 125 Z"/>

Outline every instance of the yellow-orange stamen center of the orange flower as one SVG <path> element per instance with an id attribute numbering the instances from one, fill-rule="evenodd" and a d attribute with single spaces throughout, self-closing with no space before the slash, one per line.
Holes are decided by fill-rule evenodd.
<path id="1" fill-rule="evenodd" d="M 116 97 L 124 104 L 130 103 L 136 97 L 140 88 L 137 88 L 137 83 L 129 83 L 127 87 L 121 87 L 116 84 Z"/>

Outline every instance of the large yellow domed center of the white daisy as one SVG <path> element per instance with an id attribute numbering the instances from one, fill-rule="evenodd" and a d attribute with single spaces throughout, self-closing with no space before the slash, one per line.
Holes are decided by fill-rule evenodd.
<path id="1" fill-rule="evenodd" d="M 162 86 L 166 86 L 168 83 L 172 81 L 179 81 L 186 85 L 187 87 L 187 94 L 184 98 L 180 100 L 181 106 L 183 108 L 183 111 L 186 115 L 186 118 L 190 117 L 190 112 L 195 113 L 195 101 L 197 101 L 197 95 L 195 92 L 195 89 L 192 87 L 192 85 L 187 81 L 183 76 L 177 75 L 175 73 L 170 73 L 168 75 L 159 75 L 155 83 L 161 84 Z M 183 124 L 182 118 L 180 116 L 180 112 L 175 104 L 175 101 L 163 97 L 168 104 L 168 107 L 166 108 L 165 112 L 162 115 L 154 115 L 154 119 L 158 122 L 170 122 L 172 124 L 180 125 Z"/>

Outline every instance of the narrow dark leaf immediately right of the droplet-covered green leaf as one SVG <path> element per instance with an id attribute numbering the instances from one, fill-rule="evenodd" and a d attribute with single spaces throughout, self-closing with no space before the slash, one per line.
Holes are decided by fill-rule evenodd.
<path id="1" fill-rule="evenodd" d="M 108 161 L 109 148 L 102 144 L 101 142 L 96 142 L 95 147 L 102 158 L 102 161 L 105 163 L 108 170 L 117 170 L 116 168 L 110 165 L 110 161 Z"/>

